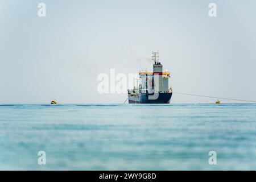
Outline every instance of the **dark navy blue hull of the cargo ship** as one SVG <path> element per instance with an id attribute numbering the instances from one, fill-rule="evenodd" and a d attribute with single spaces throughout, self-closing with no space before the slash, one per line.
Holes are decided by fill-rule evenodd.
<path id="1" fill-rule="evenodd" d="M 137 96 L 129 94 L 129 104 L 169 104 L 171 101 L 172 93 L 159 93 L 159 96 L 155 100 L 148 99 L 150 93 L 139 93 Z"/>

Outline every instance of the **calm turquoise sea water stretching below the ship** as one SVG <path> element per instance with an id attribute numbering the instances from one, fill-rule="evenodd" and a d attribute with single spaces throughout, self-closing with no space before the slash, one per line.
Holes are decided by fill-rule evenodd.
<path id="1" fill-rule="evenodd" d="M 0 169 L 255 170 L 256 104 L 0 105 Z"/>

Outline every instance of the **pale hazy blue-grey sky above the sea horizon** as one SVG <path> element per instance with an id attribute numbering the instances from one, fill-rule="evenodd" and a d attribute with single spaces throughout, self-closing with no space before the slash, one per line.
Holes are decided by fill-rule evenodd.
<path id="1" fill-rule="evenodd" d="M 46 17 L 38 16 L 40 2 Z M 98 94 L 98 74 L 150 69 L 154 50 L 174 92 L 256 100 L 255 7 L 253 0 L 0 0 L 0 104 L 122 103 L 126 94 Z M 213 101 L 174 94 L 171 102 Z"/>

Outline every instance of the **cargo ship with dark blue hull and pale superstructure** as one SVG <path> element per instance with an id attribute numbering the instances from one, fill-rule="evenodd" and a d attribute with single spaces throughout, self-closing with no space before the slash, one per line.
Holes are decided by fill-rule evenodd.
<path id="1" fill-rule="evenodd" d="M 129 104 L 169 104 L 172 87 L 169 84 L 171 73 L 163 72 L 159 62 L 159 52 L 152 52 L 153 72 L 139 71 L 137 85 L 128 89 Z"/>

